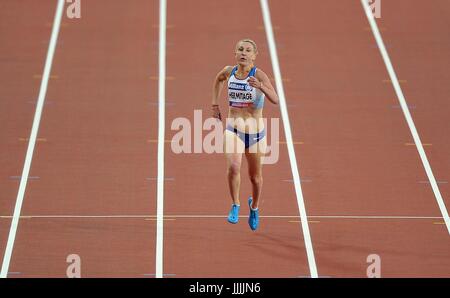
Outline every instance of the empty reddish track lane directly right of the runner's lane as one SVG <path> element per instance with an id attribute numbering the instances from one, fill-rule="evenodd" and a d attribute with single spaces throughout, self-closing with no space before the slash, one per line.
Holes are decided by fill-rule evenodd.
<path id="1" fill-rule="evenodd" d="M 359 2 L 271 8 L 309 214 L 441 216 Z M 378 253 L 385 277 L 448 275 L 441 225 L 375 222 L 312 225 L 319 274 L 364 277 Z"/>

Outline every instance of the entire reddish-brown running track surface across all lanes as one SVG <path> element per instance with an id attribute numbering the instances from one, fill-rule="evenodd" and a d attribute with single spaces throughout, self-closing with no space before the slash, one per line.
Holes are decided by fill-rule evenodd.
<path id="1" fill-rule="evenodd" d="M 445 203 L 450 206 L 450 26 L 447 1 L 383 1 L 378 26 Z M 293 140 L 320 276 L 450 276 L 450 238 L 359 1 L 270 2 Z M 63 18 L 21 214 L 10 277 L 155 274 L 158 1 L 85 1 Z M 9 1 L 0 18 L 0 215 L 11 216 L 55 1 Z M 36 12 L 39 13 L 36 13 Z M 253 13 L 252 13 L 253 12 Z M 192 17 L 196 16 L 196 17 Z M 222 20 L 222 21 L 220 21 Z M 10 24 L 14 24 L 11 26 Z M 251 37 L 272 65 L 258 1 L 168 1 L 166 139 L 172 120 L 210 116 L 211 83 Z M 47 41 L 44 43 L 43 41 Z M 225 111 L 225 101 L 221 104 Z M 280 117 L 266 104 L 267 118 Z M 281 120 L 280 120 L 281 121 Z M 206 133 L 204 133 L 206 134 Z M 285 140 L 284 134 L 280 138 Z M 150 141 L 149 141 L 150 140 Z M 285 145 L 264 168 L 258 232 L 226 223 L 224 157 L 174 154 L 166 144 L 167 277 L 308 276 Z M 244 167 L 241 200 L 250 194 Z M 447 183 L 445 183 L 447 182 Z M 244 215 L 247 209 L 242 208 Z M 71 217 L 57 218 L 57 215 Z M 122 218 L 98 216 L 124 215 Z M 132 217 L 139 215 L 142 217 Z M 189 215 L 192 217 L 173 217 Z M 223 217 L 204 218 L 204 215 Z M 96 216 L 75 218 L 73 216 Z M 170 217 L 172 216 L 172 217 Z M 354 216 L 357 218 L 327 217 Z M 408 219 L 367 218 L 407 216 Z M 145 218 L 147 217 L 147 218 Z M 436 217 L 436 218 L 418 218 Z M 3 253 L 10 218 L 0 218 Z M 3 254 L 2 254 L 3 255 Z"/>

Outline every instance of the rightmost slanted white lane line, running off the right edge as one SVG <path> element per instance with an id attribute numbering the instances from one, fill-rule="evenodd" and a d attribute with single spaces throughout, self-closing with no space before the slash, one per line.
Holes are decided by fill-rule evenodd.
<path id="1" fill-rule="evenodd" d="M 417 151 L 419 152 L 420 159 L 422 160 L 423 167 L 425 168 L 425 172 L 427 173 L 428 180 L 430 181 L 431 188 L 433 189 L 434 196 L 439 205 L 442 217 L 444 218 L 445 225 L 447 226 L 447 231 L 450 235 L 450 217 L 448 215 L 447 208 L 445 207 L 445 203 L 444 200 L 442 199 L 441 192 L 439 191 L 438 184 L 436 183 L 436 179 L 434 178 L 433 171 L 431 170 L 430 163 L 428 162 L 427 155 L 425 154 L 425 150 L 423 149 L 419 133 L 417 132 L 416 126 L 414 125 L 414 121 L 409 112 L 408 104 L 406 103 L 406 99 L 405 96 L 403 95 L 402 88 L 400 87 L 400 83 L 398 82 L 398 78 L 395 73 L 394 67 L 392 66 L 391 59 L 389 58 L 389 54 L 384 45 L 383 38 L 381 37 L 380 31 L 378 30 L 378 26 L 373 16 L 372 9 L 369 7 L 369 3 L 367 0 L 361 0 L 361 4 L 366 13 L 366 17 L 369 20 L 373 35 L 375 36 L 375 40 L 377 42 L 378 48 L 380 49 L 381 56 L 383 57 L 384 60 L 384 64 L 386 65 L 390 79 L 392 81 L 392 84 L 394 85 L 395 93 L 397 94 L 397 98 L 400 102 L 400 106 L 402 107 L 403 114 L 405 115 L 406 118 L 406 122 L 408 123 L 409 129 L 414 139 L 414 143 L 416 144 Z"/>

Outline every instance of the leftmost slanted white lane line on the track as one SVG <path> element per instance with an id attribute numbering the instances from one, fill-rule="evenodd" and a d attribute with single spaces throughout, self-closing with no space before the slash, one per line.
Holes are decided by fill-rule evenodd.
<path id="1" fill-rule="evenodd" d="M 25 195 L 25 189 L 28 182 L 28 175 L 30 173 L 31 161 L 33 159 L 34 146 L 36 144 L 36 138 L 39 131 L 42 109 L 44 106 L 45 96 L 47 94 L 48 79 L 50 77 L 52 69 L 53 56 L 55 54 L 63 10 L 64 10 L 64 0 L 58 0 L 55 18 L 53 21 L 52 35 L 50 38 L 50 44 L 47 51 L 47 58 L 45 60 L 44 73 L 42 76 L 41 87 L 39 89 L 38 102 L 36 105 L 36 111 L 33 119 L 33 126 L 31 128 L 30 139 L 28 142 L 28 149 L 25 156 L 25 163 L 23 166 L 22 176 L 20 179 L 19 191 L 17 193 L 16 198 L 16 205 L 14 207 L 14 215 L 12 218 L 11 227 L 9 229 L 9 236 L 8 242 L 6 244 L 5 255 L 3 256 L 0 278 L 6 278 L 8 276 L 9 263 L 11 261 L 11 255 L 14 248 L 14 241 L 16 239 L 17 226 L 19 225 L 20 211 L 22 209 L 23 198 Z"/>

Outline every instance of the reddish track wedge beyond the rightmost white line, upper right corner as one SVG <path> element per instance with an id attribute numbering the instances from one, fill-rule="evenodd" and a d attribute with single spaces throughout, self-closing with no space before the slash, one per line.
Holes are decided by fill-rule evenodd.
<path id="1" fill-rule="evenodd" d="M 379 20 L 387 29 L 383 37 L 390 45 L 389 54 L 397 75 L 406 81 L 403 90 L 416 126 L 423 143 L 430 144 L 425 151 L 447 210 L 450 206 L 448 12 L 448 1 L 438 0 L 433 5 L 396 1 L 386 3 Z M 430 187 L 426 181 L 423 185 Z"/>

